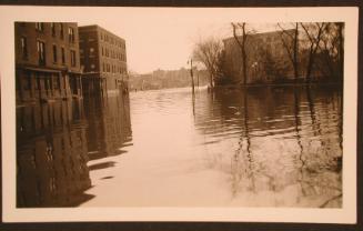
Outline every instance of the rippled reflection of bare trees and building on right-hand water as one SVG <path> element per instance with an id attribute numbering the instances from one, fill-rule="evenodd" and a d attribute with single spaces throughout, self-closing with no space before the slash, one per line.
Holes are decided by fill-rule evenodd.
<path id="1" fill-rule="evenodd" d="M 251 88 L 195 101 L 208 168 L 228 173 L 231 194 L 261 205 L 341 207 L 342 90 Z M 232 141 L 234 152 L 219 145 Z M 264 199 L 266 201 L 264 201 Z"/>

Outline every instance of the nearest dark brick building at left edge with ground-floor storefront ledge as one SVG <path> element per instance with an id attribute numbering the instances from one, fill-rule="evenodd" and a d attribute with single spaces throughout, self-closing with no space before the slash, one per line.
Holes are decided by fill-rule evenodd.
<path id="1" fill-rule="evenodd" d="M 17 103 L 81 97 L 77 23 L 16 22 Z"/>

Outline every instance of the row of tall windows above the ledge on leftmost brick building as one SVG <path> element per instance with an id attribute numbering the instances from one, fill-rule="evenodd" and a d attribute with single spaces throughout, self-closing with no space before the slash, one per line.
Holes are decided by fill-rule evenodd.
<path id="1" fill-rule="evenodd" d="M 20 38 L 20 44 L 21 44 L 21 56 L 23 59 L 28 59 L 28 42 L 26 37 Z M 46 43 L 43 41 L 37 40 L 37 52 L 38 52 L 38 61 L 39 64 L 44 66 L 46 64 Z M 53 62 L 58 62 L 58 48 L 56 44 L 52 46 L 52 53 L 53 53 Z M 77 59 L 75 59 L 75 50 L 70 50 L 71 54 L 71 66 L 75 67 Z M 65 50 L 63 47 L 61 47 L 61 62 L 62 64 L 65 64 Z"/>

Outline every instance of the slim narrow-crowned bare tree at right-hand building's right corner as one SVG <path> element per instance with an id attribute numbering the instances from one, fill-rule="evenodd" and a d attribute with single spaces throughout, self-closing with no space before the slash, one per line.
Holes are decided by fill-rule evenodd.
<path id="1" fill-rule="evenodd" d="M 281 29 L 282 44 L 288 52 L 289 60 L 292 62 L 294 69 L 294 81 L 296 83 L 299 78 L 299 23 L 293 23 L 293 33 L 284 29 L 280 23 L 278 23 L 278 27 Z"/>

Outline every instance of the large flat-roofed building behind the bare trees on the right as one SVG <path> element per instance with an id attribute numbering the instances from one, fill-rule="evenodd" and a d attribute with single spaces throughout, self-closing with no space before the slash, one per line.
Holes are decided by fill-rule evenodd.
<path id="1" fill-rule="evenodd" d="M 292 34 L 295 30 L 288 30 Z M 282 38 L 292 49 L 292 37 L 281 31 L 249 34 L 246 50 L 246 83 L 270 83 L 294 78 L 293 66 Z M 241 37 L 239 37 L 241 39 Z M 235 83 L 243 83 L 241 49 L 235 38 L 223 40 L 226 72 Z"/>

